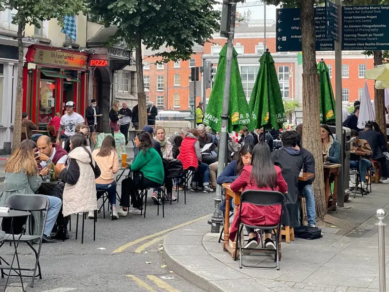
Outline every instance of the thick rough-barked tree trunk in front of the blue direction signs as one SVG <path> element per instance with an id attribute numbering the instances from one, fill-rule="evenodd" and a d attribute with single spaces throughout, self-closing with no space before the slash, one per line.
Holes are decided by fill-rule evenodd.
<path id="1" fill-rule="evenodd" d="M 324 192 L 323 151 L 320 139 L 319 75 L 315 51 L 314 0 L 301 1 L 300 25 L 302 33 L 302 113 L 303 145 L 310 151 L 316 162 L 313 190 L 316 202 L 316 216 L 327 214 Z"/>

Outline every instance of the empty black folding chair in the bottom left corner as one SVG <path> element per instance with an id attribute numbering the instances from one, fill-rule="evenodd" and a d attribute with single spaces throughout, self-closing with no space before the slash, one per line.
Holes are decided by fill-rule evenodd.
<path id="1" fill-rule="evenodd" d="M 41 248 L 42 248 L 42 238 L 43 238 L 43 232 L 45 230 L 45 225 L 46 225 L 46 220 L 47 220 L 47 212 L 49 210 L 49 199 L 44 196 L 44 195 L 35 195 L 35 194 L 13 194 L 9 196 L 6 199 L 5 203 L 6 207 L 9 207 L 10 209 L 13 210 L 18 210 L 18 211 L 42 211 L 44 215 L 44 221 L 43 221 L 43 227 L 40 235 L 22 235 L 19 239 L 19 242 L 25 242 L 34 252 L 35 254 L 35 265 L 34 268 L 21 268 L 21 271 L 30 271 L 33 272 L 32 276 L 31 275 L 22 275 L 22 277 L 31 277 L 31 287 L 34 286 L 34 280 L 35 277 L 39 277 L 42 279 L 42 273 L 41 273 L 41 265 L 39 263 L 39 257 L 41 254 Z M 2 222 L 2 228 L 4 221 Z M 19 237 L 19 236 L 18 236 Z M 16 236 L 15 236 L 15 240 Z M 38 251 L 32 246 L 32 242 L 39 240 L 39 246 L 38 246 Z M 5 242 L 13 242 L 13 236 L 12 234 L 6 234 L 4 241 L 0 244 L 0 248 L 3 246 Z M 0 257 L 0 261 L 3 261 L 8 265 L 8 263 Z M 36 274 L 36 268 L 38 269 L 38 275 Z M 4 278 L 4 271 L 3 270 L 8 270 L 8 269 L 1 269 L 1 274 L 2 278 Z M 13 269 L 16 270 L 16 269 Z M 17 273 L 17 272 L 16 272 Z M 11 275 L 11 276 L 17 276 L 19 277 L 20 275 Z"/>

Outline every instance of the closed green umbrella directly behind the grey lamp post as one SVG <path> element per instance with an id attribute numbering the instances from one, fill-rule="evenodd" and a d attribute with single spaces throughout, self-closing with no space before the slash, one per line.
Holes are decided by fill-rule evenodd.
<path id="1" fill-rule="evenodd" d="M 239 72 L 238 53 L 234 49 L 232 58 L 231 84 L 229 87 L 229 119 L 228 133 L 238 132 L 245 125 L 250 123 L 250 111 L 246 100 L 246 94 L 243 90 L 242 79 Z M 219 53 L 219 63 L 215 76 L 215 82 L 212 87 L 211 96 L 207 104 L 204 117 L 204 124 L 210 126 L 214 131 L 221 130 L 221 113 L 223 109 L 223 94 L 225 80 L 227 46 L 224 45 Z"/>

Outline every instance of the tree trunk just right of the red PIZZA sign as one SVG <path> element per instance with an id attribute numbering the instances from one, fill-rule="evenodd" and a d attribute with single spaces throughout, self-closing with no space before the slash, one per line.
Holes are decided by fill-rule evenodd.
<path id="1" fill-rule="evenodd" d="M 146 113 L 146 93 L 144 92 L 143 83 L 143 61 L 142 61 L 142 36 L 140 33 L 136 35 L 135 49 L 135 64 L 136 64 L 136 80 L 138 84 L 138 114 L 139 114 L 139 129 L 143 129 L 147 125 Z"/>

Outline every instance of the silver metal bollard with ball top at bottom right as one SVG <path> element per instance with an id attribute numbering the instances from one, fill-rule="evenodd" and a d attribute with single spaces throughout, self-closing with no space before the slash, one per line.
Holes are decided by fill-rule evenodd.
<path id="1" fill-rule="evenodd" d="M 376 214 L 378 222 L 378 269 L 379 269 L 379 292 L 386 292 L 386 275 L 385 275 L 385 225 L 382 220 L 385 218 L 385 211 L 378 209 Z"/>

